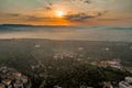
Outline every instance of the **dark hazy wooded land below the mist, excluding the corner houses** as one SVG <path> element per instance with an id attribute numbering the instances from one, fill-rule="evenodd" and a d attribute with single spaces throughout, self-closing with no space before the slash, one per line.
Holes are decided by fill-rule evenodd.
<path id="1" fill-rule="evenodd" d="M 29 76 L 32 88 L 102 88 L 117 85 L 129 72 L 91 65 L 120 61 L 132 67 L 132 43 L 103 41 L 1 40 L 0 65 Z"/>

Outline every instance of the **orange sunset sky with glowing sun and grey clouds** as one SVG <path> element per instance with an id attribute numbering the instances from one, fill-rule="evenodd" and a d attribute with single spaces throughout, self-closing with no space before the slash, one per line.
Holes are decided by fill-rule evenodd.
<path id="1" fill-rule="evenodd" d="M 0 24 L 132 25 L 132 0 L 0 0 Z"/>

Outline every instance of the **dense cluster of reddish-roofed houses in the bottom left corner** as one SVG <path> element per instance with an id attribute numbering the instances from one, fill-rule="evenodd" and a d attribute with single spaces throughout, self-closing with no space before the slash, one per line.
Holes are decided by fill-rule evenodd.
<path id="1" fill-rule="evenodd" d="M 29 79 L 18 70 L 0 67 L 0 88 L 28 88 Z"/>

